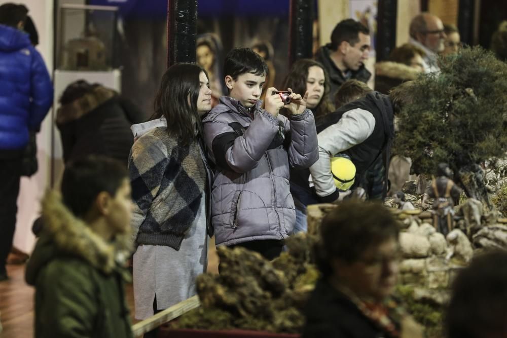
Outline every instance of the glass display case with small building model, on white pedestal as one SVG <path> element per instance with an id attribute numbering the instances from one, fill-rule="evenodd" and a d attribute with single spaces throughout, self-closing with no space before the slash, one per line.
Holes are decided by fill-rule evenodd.
<path id="1" fill-rule="evenodd" d="M 107 71 L 114 68 L 117 8 L 61 5 L 56 68 Z"/>

